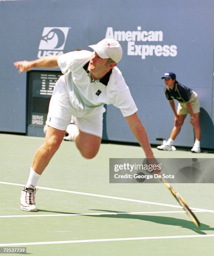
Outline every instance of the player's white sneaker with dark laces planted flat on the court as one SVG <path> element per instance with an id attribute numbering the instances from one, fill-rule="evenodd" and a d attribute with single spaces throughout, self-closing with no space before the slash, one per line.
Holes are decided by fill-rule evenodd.
<path id="1" fill-rule="evenodd" d="M 33 186 L 24 187 L 21 193 L 21 210 L 27 212 L 36 212 L 35 205 L 35 192 L 36 188 Z"/>

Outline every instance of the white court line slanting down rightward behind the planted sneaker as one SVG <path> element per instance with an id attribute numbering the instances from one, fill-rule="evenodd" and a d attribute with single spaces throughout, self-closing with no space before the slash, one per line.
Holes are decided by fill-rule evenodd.
<path id="1" fill-rule="evenodd" d="M 24 187 L 24 184 L 17 184 L 17 183 L 11 183 L 11 182 L 0 182 L 0 184 L 7 184 L 7 185 L 14 185 L 14 186 L 21 186 Z M 87 195 L 87 196 L 92 196 L 92 197 L 104 197 L 104 198 L 110 198 L 110 199 L 116 199 L 116 200 L 124 200 L 124 201 L 129 201 L 129 202 L 140 202 L 144 204 L 150 204 L 150 205 L 161 205 L 161 206 L 169 206 L 169 207 L 174 207 L 174 208 L 183 208 L 179 205 L 169 205 L 169 204 L 163 204 L 163 203 L 157 203 L 157 202 L 149 202 L 149 201 L 142 201 L 142 200 L 135 200 L 135 199 L 128 199 L 128 198 L 123 198 L 123 197 L 113 197 L 113 196 L 106 196 L 106 195 L 97 195 L 97 194 L 91 194 L 91 193 L 85 193 L 85 192 L 76 192 L 76 191 L 71 191 L 71 190 L 64 190 L 64 189 L 53 189 L 53 188 L 48 188 L 48 187 L 37 187 L 39 189 L 45 189 L 45 190 L 52 190 L 52 191 L 57 191 L 57 192 L 65 192 L 65 193 L 71 193 L 71 194 L 78 194 L 78 195 Z M 199 208 L 193 208 L 190 207 L 191 210 L 199 210 L 199 211 L 204 211 L 204 212 L 214 212 L 214 210 L 205 210 L 205 209 L 199 209 Z"/>

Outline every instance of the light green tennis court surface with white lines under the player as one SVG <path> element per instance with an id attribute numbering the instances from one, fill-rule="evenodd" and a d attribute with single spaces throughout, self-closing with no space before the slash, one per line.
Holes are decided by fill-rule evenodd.
<path id="1" fill-rule="evenodd" d="M 21 211 L 20 192 L 43 140 L 0 134 L 0 247 L 41 256 L 213 255 L 214 184 L 173 184 L 196 208 L 200 228 L 163 184 L 109 184 L 109 158 L 145 157 L 138 146 L 101 144 L 86 160 L 75 143 L 63 141 L 38 182 L 38 212 Z M 156 158 L 193 157 L 153 150 Z"/>

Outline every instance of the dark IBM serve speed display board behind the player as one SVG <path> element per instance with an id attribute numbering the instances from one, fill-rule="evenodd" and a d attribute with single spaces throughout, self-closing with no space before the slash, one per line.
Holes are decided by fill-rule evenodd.
<path id="1" fill-rule="evenodd" d="M 37 71 L 27 73 L 27 135 L 44 137 L 43 127 L 47 119 L 50 97 L 60 71 Z"/>

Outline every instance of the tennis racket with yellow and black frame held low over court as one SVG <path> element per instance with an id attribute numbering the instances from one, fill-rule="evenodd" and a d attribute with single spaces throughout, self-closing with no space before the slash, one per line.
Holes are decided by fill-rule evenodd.
<path id="1" fill-rule="evenodd" d="M 184 201 L 184 198 L 181 197 L 181 195 L 179 195 L 178 192 L 175 191 L 175 189 L 173 187 L 171 187 L 171 185 L 169 183 L 167 183 L 166 181 L 164 181 L 163 179 L 161 179 L 161 181 L 164 183 L 164 185 L 169 189 L 169 191 L 172 193 L 172 195 L 174 195 L 175 199 L 179 202 L 179 204 L 181 205 L 181 207 L 184 208 L 184 210 L 186 211 L 187 215 L 189 215 L 189 217 L 191 218 L 191 220 L 193 221 L 193 223 L 196 225 L 196 227 L 200 226 L 200 222 L 197 219 L 196 215 L 194 215 L 194 213 L 189 209 L 189 206 L 187 205 L 187 203 Z"/>

